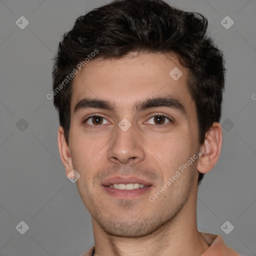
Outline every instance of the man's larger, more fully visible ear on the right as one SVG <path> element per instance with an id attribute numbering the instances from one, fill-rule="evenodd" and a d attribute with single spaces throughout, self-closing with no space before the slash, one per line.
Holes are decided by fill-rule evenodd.
<path id="1" fill-rule="evenodd" d="M 214 122 L 206 133 L 204 143 L 200 147 L 201 155 L 197 163 L 197 170 L 201 173 L 210 171 L 216 164 L 222 146 L 222 128 Z"/>

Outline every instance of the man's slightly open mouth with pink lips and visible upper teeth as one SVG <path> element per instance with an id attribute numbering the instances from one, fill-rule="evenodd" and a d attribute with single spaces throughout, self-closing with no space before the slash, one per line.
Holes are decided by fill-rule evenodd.
<path id="1" fill-rule="evenodd" d="M 106 179 L 102 184 L 107 194 L 119 199 L 130 199 L 149 191 L 152 184 L 138 177 L 115 176 Z"/>

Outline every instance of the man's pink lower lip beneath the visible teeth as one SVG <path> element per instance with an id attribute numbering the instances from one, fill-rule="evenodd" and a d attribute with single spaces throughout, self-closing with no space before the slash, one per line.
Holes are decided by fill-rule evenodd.
<path id="1" fill-rule="evenodd" d="M 151 189 L 151 186 L 140 187 L 140 188 L 135 188 L 131 190 L 116 189 L 114 187 L 109 187 L 109 186 L 103 186 L 103 188 L 108 194 L 113 195 L 119 199 L 129 199 L 129 198 L 133 198 L 135 196 L 142 195 L 148 192 Z"/>

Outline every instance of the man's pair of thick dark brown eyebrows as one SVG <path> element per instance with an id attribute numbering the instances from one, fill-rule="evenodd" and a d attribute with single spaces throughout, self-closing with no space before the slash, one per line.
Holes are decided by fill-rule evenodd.
<path id="1" fill-rule="evenodd" d="M 186 109 L 183 104 L 173 96 L 154 97 L 139 100 L 133 106 L 136 112 L 153 107 L 169 107 L 178 110 L 186 117 Z M 74 107 L 74 113 L 82 109 L 101 108 L 109 111 L 116 111 L 115 105 L 106 99 L 83 98 Z"/>

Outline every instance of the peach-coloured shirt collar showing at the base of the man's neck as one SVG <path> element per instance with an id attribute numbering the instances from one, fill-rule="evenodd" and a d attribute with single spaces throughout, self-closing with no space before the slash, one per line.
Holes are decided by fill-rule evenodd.
<path id="1" fill-rule="evenodd" d="M 210 245 L 201 256 L 240 256 L 233 249 L 227 247 L 220 235 L 200 232 L 204 240 Z M 93 256 L 95 246 L 92 246 L 81 256 Z M 104 256 L 104 255 L 100 255 Z"/>

